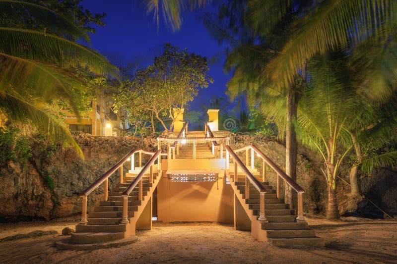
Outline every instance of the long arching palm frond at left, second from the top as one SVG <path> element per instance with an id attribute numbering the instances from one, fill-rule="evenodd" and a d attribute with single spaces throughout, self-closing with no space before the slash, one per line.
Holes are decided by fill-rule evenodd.
<path id="1" fill-rule="evenodd" d="M 117 68 L 101 54 L 55 35 L 39 31 L 0 27 L 0 53 L 55 63 L 68 67 L 72 62 L 101 75 L 116 76 Z"/>

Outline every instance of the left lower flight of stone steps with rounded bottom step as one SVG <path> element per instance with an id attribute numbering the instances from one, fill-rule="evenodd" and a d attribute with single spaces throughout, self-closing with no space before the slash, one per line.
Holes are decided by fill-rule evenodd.
<path id="1" fill-rule="evenodd" d="M 101 201 L 93 211 L 88 213 L 87 224 L 76 225 L 76 231 L 71 235 L 69 243 L 58 243 L 66 249 L 96 249 L 110 246 L 126 245 L 137 241 L 136 236 L 130 236 L 129 224 L 121 224 L 123 218 L 123 197 L 121 194 L 127 189 L 137 173 L 126 173 L 124 183 L 118 183 L 109 191 L 107 201 Z M 153 182 L 150 175 L 143 176 L 143 197 L 148 200 L 158 183 L 158 171 L 153 171 Z M 142 212 L 143 201 L 138 201 L 138 186 L 128 197 L 128 219 L 139 217 Z M 120 242 L 120 243 L 117 243 Z M 62 244 L 62 245 L 61 245 Z"/>

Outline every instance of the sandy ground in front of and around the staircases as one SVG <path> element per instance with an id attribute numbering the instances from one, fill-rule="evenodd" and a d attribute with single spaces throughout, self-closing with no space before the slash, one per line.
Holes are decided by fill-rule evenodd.
<path id="1" fill-rule="evenodd" d="M 0 239 L 34 230 L 74 228 L 76 217 L 0 224 Z M 217 223 L 155 223 L 138 242 L 119 248 L 67 251 L 54 247 L 62 235 L 0 242 L 0 263 L 397 263 L 397 221 L 328 221 L 307 218 L 325 248 L 276 248 L 250 232 Z"/>

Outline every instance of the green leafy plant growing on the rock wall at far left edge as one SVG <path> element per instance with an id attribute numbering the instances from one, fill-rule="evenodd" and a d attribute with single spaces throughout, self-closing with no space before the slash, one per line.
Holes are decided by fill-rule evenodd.
<path id="1" fill-rule="evenodd" d="M 0 166 L 11 160 L 24 166 L 32 157 L 29 142 L 18 129 L 0 127 Z"/>

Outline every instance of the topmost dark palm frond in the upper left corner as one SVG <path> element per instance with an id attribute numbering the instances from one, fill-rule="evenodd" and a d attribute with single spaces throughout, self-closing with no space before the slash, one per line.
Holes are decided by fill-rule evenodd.
<path id="1" fill-rule="evenodd" d="M 89 42 L 88 36 L 74 21 L 46 6 L 27 1 L 0 0 L 0 21 L 6 21 L 7 24 L 11 25 L 25 26 L 29 20 L 38 26 L 45 26 L 47 31 L 67 32 L 68 35 L 76 39 L 82 38 Z"/>

